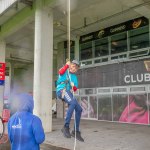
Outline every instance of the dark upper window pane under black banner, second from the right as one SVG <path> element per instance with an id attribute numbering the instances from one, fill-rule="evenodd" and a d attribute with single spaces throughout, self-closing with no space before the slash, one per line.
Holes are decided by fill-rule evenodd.
<path id="1" fill-rule="evenodd" d="M 127 51 L 127 32 L 111 37 L 111 54 Z"/>

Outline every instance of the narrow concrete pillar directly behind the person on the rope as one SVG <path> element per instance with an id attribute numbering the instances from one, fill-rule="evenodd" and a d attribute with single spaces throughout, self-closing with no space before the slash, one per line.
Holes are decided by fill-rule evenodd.
<path id="1" fill-rule="evenodd" d="M 57 51 L 57 70 L 63 67 L 65 63 L 66 62 L 65 62 L 64 42 L 60 42 L 58 43 L 58 51 Z M 57 104 L 57 118 L 64 118 L 64 103 L 61 100 L 57 100 L 56 104 Z"/>

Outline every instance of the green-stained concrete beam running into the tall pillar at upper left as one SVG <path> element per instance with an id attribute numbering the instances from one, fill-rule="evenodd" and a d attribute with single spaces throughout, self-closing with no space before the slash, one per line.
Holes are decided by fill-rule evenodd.
<path id="1" fill-rule="evenodd" d="M 49 6 L 55 0 L 44 0 Z M 0 38 L 5 38 L 33 20 L 36 3 L 33 0 L 17 0 L 0 15 Z"/>

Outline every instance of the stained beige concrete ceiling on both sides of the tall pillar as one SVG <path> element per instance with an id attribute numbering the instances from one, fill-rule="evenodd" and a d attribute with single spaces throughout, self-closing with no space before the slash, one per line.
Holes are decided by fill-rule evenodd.
<path id="1" fill-rule="evenodd" d="M 54 46 L 57 47 L 58 42 L 67 39 L 66 0 L 58 0 L 51 8 L 54 14 Z M 148 17 L 149 14 L 150 0 L 71 0 L 71 38 L 139 16 Z M 27 60 L 33 60 L 34 19 L 7 37 L 6 43 L 7 58 L 25 57 Z"/>

